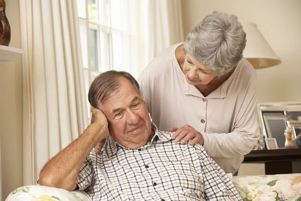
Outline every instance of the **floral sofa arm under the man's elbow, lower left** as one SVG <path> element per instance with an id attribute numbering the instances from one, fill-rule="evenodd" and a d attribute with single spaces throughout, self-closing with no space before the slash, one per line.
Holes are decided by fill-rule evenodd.
<path id="1" fill-rule="evenodd" d="M 7 197 L 7 201 L 91 201 L 83 191 L 68 191 L 61 188 L 28 185 L 17 188 Z"/>

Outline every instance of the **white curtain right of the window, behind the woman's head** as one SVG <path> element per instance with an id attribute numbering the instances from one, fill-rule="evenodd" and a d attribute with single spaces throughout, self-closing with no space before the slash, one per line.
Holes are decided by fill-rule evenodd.
<path id="1" fill-rule="evenodd" d="M 140 74 L 147 64 L 170 45 L 183 42 L 181 0 L 136 0 L 131 16 L 131 30 L 135 42 L 131 48 L 132 61 L 136 61 L 132 74 Z M 133 51 L 133 50 L 131 50 Z"/>

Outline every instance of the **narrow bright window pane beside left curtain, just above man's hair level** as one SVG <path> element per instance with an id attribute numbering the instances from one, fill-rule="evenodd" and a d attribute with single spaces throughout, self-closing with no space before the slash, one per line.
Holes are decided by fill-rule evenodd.
<path id="1" fill-rule="evenodd" d="M 88 44 L 87 44 L 87 27 L 86 20 L 79 18 L 79 35 L 80 35 L 80 44 L 83 57 L 83 66 L 88 68 Z"/>

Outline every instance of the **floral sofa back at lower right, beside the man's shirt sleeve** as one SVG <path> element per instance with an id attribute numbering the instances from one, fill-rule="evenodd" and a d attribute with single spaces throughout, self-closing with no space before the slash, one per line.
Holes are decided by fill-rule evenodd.
<path id="1" fill-rule="evenodd" d="M 232 182 L 244 201 L 301 201 L 301 174 L 236 176 Z"/>

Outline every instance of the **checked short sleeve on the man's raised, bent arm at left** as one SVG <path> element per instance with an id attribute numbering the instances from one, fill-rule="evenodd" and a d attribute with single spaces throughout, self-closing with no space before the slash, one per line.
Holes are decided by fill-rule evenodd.
<path id="1" fill-rule="evenodd" d="M 76 184 L 79 187 L 78 190 L 85 190 L 86 188 L 92 185 L 92 170 L 93 168 L 90 162 L 90 157 L 87 156 L 79 170 L 78 177 L 76 179 Z"/>

